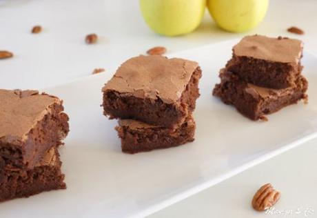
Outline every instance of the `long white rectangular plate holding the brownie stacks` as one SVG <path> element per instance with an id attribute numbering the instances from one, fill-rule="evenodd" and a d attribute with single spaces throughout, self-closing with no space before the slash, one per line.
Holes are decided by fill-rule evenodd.
<path id="1" fill-rule="evenodd" d="M 179 52 L 203 70 L 196 140 L 136 155 L 121 152 L 114 126 L 103 116 L 101 87 L 114 70 L 45 90 L 64 100 L 70 134 L 61 148 L 67 190 L 0 204 L 0 217 L 144 216 L 293 148 L 317 131 L 317 59 L 305 53 L 309 104 L 298 103 L 269 121 L 250 121 L 212 97 L 218 71 L 236 41 Z"/>

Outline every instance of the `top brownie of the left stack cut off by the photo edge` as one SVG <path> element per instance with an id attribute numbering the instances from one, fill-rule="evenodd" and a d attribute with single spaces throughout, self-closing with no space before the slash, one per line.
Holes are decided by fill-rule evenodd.
<path id="1" fill-rule="evenodd" d="M 63 101 L 35 90 L 0 90 L 0 166 L 32 169 L 68 134 Z"/>

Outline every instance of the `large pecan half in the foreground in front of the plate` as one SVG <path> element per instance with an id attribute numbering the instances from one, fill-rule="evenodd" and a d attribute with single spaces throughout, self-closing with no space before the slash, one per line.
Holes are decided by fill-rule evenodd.
<path id="1" fill-rule="evenodd" d="M 275 190 L 271 184 L 265 184 L 254 195 L 252 199 L 252 207 L 254 210 L 267 210 L 276 204 L 280 199 L 280 192 Z"/>

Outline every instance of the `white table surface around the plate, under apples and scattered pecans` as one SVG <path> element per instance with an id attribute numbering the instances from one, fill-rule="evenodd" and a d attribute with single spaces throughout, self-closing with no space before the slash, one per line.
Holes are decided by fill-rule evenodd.
<path id="1" fill-rule="evenodd" d="M 306 50 L 317 54 L 316 10 L 315 0 L 271 1 L 265 21 L 245 34 L 297 37 L 305 42 Z M 43 32 L 30 34 L 37 24 Z M 147 28 L 136 0 L 0 0 L 0 26 L 0 50 L 14 53 L 14 58 L 0 61 L 0 88 L 10 89 L 42 89 L 90 77 L 94 68 L 114 68 L 152 46 L 165 46 L 172 53 L 245 35 L 218 29 L 206 12 L 195 32 L 161 37 Z M 290 34 L 286 32 L 289 26 L 303 28 L 306 34 Z M 84 38 L 92 32 L 100 40 L 88 46 Z M 249 200 L 266 182 L 282 190 L 279 210 L 312 207 L 315 214 L 310 217 L 317 217 L 316 142 L 305 143 L 152 217 L 255 217 Z M 304 211 L 293 215 L 300 216 L 305 216 Z"/>

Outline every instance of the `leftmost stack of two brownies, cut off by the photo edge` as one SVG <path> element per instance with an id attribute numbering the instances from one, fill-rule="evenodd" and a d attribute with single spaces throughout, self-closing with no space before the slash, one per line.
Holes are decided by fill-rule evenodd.
<path id="1" fill-rule="evenodd" d="M 65 188 L 63 101 L 35 90 L 0 90 L 0 101 L 0 201 Z"/>

